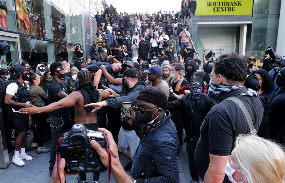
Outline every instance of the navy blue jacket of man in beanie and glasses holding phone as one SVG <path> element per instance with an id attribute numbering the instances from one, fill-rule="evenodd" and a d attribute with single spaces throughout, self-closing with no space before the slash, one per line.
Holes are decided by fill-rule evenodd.
<path id="1" fill-rule="evenodd" d="M 134 153 L 131 175 L 137 183 L 179 182 L 180 145 L 169 111 L 165 114 L 159 126 L 144 135 Z"/>

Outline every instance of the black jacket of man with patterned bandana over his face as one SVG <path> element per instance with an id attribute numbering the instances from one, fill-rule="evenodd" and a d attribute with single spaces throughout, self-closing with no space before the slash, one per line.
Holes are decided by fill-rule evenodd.
<path id="1" fill-rule="evenodd" d="M 200 113 L 193 113 L 194 110 L 194 103 L 198 102 Z M 197 138 L 200 137 L 200 127 L 205 119 L 208 112 L 211 110 L 211 108 L 216 105 L 216 100 L 208 97 L 206 94 L 201 94 L 200 99 L 198 101 L 194 101 L 191 98 L 191 95 L 184 95 L 182 98 L 175 100 L 173 102 L 168 102 L 166 109 L 178 109 L 182 110 L 184 113 L 184 129 L 187 138 Z M 200 115 L 199 118 L 196 118 L 195 116 Z M 193 121 L 192 119 L 201 119 L 201 121 Z"/>

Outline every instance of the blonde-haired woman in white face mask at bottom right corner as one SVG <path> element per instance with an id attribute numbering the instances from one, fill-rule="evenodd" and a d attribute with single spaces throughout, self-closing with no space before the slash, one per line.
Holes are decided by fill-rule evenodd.
<path id="1" fill-rule="evenodd" d="M 239 135 L 225 171 L 233 183 L 284 183 L 285 153 L 270 140 Z"/>

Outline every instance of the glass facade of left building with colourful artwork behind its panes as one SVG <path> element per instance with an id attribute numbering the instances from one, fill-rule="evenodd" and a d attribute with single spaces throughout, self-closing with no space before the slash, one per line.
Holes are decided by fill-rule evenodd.
<path id="1" fill-rule="evenodd" d="M 29 62 L 32 69 L 40 62 L 75 62 L 76 56 L 70 49 L 77 43 L 82 47 L 86 43 L 83 9 L 88 8 L 89 14 L 89 4 L 90 0 L 0 1 L 0 35 L 1 31 L 17 34 L 8 35 L 16 41 L 9 41 L 4 33 L 0 36 L 1 68 L 20 61 Z"/>

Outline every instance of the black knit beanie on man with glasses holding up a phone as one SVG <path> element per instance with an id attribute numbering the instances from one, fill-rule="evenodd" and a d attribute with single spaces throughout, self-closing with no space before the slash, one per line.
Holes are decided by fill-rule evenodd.
<path id="1" fill-rule="evenodd" d="M 146 88 L 137 94 L 137 99 L 150 102 L 159 107 L 167 107 L 167 97 L 164 92 L 157 88 Z"/>

